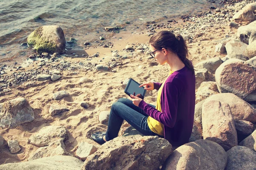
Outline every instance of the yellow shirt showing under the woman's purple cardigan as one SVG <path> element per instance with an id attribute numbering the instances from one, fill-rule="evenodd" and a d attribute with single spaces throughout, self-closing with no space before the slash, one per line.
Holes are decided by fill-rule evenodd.
<path id="1" fill-rule="evenodd" d="M 173 73 L 173 71 L 170 71 L 168 77 L 172 73 Z M 156 109 L 157 109 L 157 111 L 160 111 L 160 112 L 162 112 L 162 109 L 161 109 L 161 94 L 162 94 L 163 85 L 164 85 L 165 81 L 163 82 L 163 84 L 161 85 L 161 87 L 159 88 L 159 90 L 157 92 L 157 105 L 156 105 Z M 148 122 L 148 127 L 150 128 L 150 130 L 152 132 L 157 133 L 158 135 L 163 136 L 163 124 L 162 123 L 158 122 L 157 120 L 153 119 L 150 116 L 148 116 L 147 122 Z"/>

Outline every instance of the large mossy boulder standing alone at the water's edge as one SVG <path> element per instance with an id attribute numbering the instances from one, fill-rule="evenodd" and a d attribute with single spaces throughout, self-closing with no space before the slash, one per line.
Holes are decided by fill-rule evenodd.
<path id="1" fill-rule="evenodd" d="M 40 54 L 65 52 L 64 32 L 59 26 L 41 26 L 29 35 L 27 42 Z"/>

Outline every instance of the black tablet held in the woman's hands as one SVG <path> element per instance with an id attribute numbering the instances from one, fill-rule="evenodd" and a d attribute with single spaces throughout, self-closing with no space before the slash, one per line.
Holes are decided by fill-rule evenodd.
<path id="1" fill-rule="evenodd" d="M 134 79 L 130 78 L 126 88 L 125 88 L 125 93 L 130 96 L 131 94 L 136 96 L 137 94 L 141 94 L 142 95 L 142 99 L 144 99 L 146 90 L 144 89 L 144 87 L 140 87 L 140 84 L 138 82 L 136 82 Z"/>

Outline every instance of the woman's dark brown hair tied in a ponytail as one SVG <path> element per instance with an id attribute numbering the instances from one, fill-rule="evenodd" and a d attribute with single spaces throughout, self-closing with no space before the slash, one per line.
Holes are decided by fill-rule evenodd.
<path id="1" fill-rule="evenodd" d="M 154 34 L 150 40 L 154 48 L 166 48 L 167 50 L 176 53 L 180 60 L 186 65 L 187 68 L 193 71 L 195 74 L 194 66 L 188 57 L 188 48 L 186 42 L 181 35 L 175 35 L 170 31 L 160 31 L 157 34 Z"/>

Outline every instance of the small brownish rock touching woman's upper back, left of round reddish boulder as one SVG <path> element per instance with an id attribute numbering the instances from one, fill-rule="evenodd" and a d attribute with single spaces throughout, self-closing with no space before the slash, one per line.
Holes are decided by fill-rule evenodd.
<path id="1" fill-rule="evenodd" d="M 195 71 L 195 88 L 197 89 L 202 82 L 212 81 L 213 75 L 207 69 L 198 69 Z"/>

